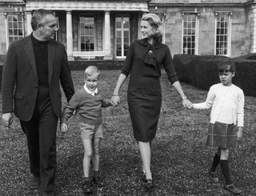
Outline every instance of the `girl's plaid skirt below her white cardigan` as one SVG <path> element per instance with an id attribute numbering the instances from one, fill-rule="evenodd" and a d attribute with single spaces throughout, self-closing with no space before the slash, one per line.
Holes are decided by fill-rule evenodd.
<path id="1" fill-rule="evenodd" d="M 237 138 L 237 128 L 234 124 L 210 123 L 206 145 L 210 147 L 235 148 L 237 146 Z"/>

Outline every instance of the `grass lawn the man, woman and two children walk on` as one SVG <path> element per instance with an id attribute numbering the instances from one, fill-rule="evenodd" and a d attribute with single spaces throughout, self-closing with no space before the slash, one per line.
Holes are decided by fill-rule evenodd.
<path id="1" fill-rule="evenodd" d="M 102 70 L 99 87 L 110 98 L 119 70 Z M 83 84 L 83 72 L 72 71 L 77 90 Z M 141 162 L 134 141 L 126 102 L 127 82 L 122 87 L 121 104 L 103 109 L 104 135 L 101 143 L 101 174 L 108 185 L 95 188 L 93 195 L 231 195 L 222 189 L 224 179 L 218 168 L 220 183 L 212 184 L 207 175 L 214 150 L 206 146 L 210 110 L 186 110 L 181 98 L 167 80 L 162 78 L 162 110 L 154 140 L 152 172 L 154 189 L 144 190 Z M 192 102 L 203 102 L 206 90 L 182 83 Z M 1 100 L 0 100 L 1 101 Z M 65 104 L 63 98 L 63 104 Z M 246 97 L 245 126 L 238 148 L 230 150 L 231 174 L 242 195 L 256 195 L 256 98 Z M 0 124 L 0 195 L 39 195 L 30 190 L 30 166 L 26 137 L 15 118 L 10 130 Z M 72 118 L 69 131 L 58 130 L 58 172 L 55 190 L 60 196 L 83 195 L 82 142 L 78 118 Z"/>

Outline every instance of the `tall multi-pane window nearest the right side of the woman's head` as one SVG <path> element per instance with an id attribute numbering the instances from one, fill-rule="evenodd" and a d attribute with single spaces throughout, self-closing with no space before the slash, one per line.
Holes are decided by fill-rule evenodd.
<path id="1" fill-rule="evenodd" d="M 198 54 L 198 14 L 182 15 L 182 54 Z"/>

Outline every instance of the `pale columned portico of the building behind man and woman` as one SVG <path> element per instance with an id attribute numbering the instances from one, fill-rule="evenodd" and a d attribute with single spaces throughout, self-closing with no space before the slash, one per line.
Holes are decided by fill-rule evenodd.
<path id="1" fill-rule="evenodd" d="M 139 38 L 140 18 L 148 12 L 148 1 L 27 1 L 27 34 L 32 31 L 32 11 L 39 8 L 56 13 L 56 39 L 66 45 L 69 60 L 113 59 L 125 58 L 131 40 Z"/>

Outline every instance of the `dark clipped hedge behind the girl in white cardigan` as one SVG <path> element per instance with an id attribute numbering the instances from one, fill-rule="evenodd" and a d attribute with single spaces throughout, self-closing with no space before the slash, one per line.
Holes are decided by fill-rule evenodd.
<path id="1" fill-rule="evenodd" d="M 190 59 L 188 59 L 190 58 Z M 250 54 L 233 58 L 237 73 L 234 84 L 242 88 L 247 96 L 256 96 L 256 55 Z M 188 82 L 203 90 L 219 82 L 218 62 L 227 59 L 225 56 L 194 56 L 187 54 L 174 55 L 174 65 L 181 82 Z"/>

